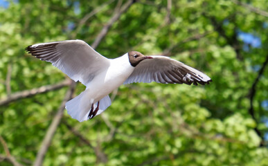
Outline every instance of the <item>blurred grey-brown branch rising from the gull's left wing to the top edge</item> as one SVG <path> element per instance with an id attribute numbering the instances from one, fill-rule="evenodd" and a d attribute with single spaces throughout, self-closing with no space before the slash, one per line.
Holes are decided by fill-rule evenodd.
<path id="1" fill-rule="evenodd" d="M 120 10 L 118 12 L 114 13 L 114 15 L 111 17 L 111 19 L 109 19 L 108 23 L 102 28 L 102 30 L 100 31 L 100 33 L 96 37 L 95 41 L 91 45 L 92 48 L 94 48 L 94 49 L 97 48 L 97 46 L 98 46 L 98 44 L 100 44 L 100 41 L 102 40 L 102 38 L 104 38 L 105 35 L 107 34 L 109 28 L 111 28 L 111 26 L 114 24 L 114 22 L 120 18 L 120 15 L 122 15 L 123 12 L 127 11 L 127 9 L 134 2 L 135 2 L 134 0 L 128 0 L 127 3 L 125 3 L 124 6 L 122 6 L 122 8 L 120 8 Z"/>

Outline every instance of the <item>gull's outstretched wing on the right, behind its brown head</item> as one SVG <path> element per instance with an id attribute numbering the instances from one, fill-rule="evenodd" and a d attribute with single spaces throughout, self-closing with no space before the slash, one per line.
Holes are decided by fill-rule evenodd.
<path id="1" fill-rule="evenodd" d="M 159 82 L 163 84 L 209 84 L 212 82 L 208 75 L 187 66 L 175 59 L 165 56 L 150 56 L 135 68 L 124 84 L 132 82 Z"/>

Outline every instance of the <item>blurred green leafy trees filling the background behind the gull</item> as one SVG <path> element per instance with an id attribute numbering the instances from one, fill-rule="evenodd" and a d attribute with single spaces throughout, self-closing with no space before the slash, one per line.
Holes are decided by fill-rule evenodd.
<path id="1" fill-rule="evenodd" d="M 267 20 L 265 0 L 0 0 L 0 165 L 267 165 Z M 85 87 L 24 51 L 65 39 L 167 55 L 213 82 L 120 86 L 80 123 L 59 112 Z"/>

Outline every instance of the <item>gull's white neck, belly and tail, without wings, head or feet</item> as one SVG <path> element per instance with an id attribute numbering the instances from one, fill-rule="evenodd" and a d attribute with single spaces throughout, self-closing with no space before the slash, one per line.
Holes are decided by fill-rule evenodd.
<path id="1" fill-rule="evenodd" d="M 67 112 L 72 118 L 79 122 L 88 120 L 91 105 L 94 104 L 96 109 L 98 101 L 100 106 L 96 116 L 111 105 L 109 93 L 123 84 L 134 70 L 129 63 L 125 63 L 124 60 L 128 60 L 128 57 L 125 56 L 126 59 L 124 56 L 120 59 L 111 59 L 110 65 L 87 84 L 85 91 L 66 102 Z"/>

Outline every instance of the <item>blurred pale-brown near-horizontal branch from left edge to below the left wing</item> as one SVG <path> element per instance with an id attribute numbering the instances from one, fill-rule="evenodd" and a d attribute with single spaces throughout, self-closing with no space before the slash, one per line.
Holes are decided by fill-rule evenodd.
<path id="1" fill-rule="evenodd" d="M 19 100 L 21 98 L 28 98 L 30 96 L 37 95 L 39 93 L 46 93 L 48 91 L 54 91 L 57 89 L 61 89 L 62 87 L 67 86 L 69 84 L 71 84 L 71 80 L 64 80 L 63 82 L 60 82 L 57 84 L 41 86 L 41 87 L 36 88 L 36 89 L 30 89 L 30 90 L 26 90 L 26 91 L 20 91 L 17 93 L 13 93 L 13 94 L 9 95 L 8 97 L 0 100 L 0 106 L 8 104 L 10 102 L 13 102 L 15 100 Z"/>

